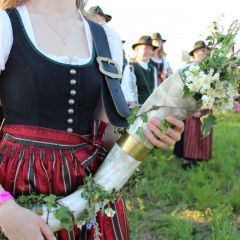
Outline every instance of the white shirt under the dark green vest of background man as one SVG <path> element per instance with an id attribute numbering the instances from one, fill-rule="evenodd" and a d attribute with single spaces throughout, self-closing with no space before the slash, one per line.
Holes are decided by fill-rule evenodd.
<path id="1" fill-rule="evenodd" d="M 148 62 L 143 62 L 139 59 L 136 59 L 136 60 L 143 69 L 145 69 L 145 70 L 148 69 Z M 136 76 L 135 76 L 134 72 L 131 72 L 131 67 L 128 64 L 124 68 L 123 79 L 122 79 L 122 83 L 121 83 L 123 94 L 124 94 L 127 102 L 133 102 L 134 101 L 133 85 L 136 84 L 136 82 L 134 82 L 134 83 L 132 82 L 134 77 L 132 78 L 131 74 L 133 74 L 135 79 L 136 79 Z M 157 70 L 154 67 L 154 88 L 153 88 L 153 91 L 155 91 L 156 88 L 157 88 Z"/>

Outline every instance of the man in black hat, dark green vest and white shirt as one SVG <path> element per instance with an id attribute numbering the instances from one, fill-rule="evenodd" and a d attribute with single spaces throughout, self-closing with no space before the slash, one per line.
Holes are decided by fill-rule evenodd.
<path id="1" fill-rule="evenodd" d="M 130 106 L 143 104 L 157 87 L 156 68 L 149 63 L 153 50 L 150 36 L 142 36 L 132 45 L 136 57 L 125 67 L 122 89 Z"/>

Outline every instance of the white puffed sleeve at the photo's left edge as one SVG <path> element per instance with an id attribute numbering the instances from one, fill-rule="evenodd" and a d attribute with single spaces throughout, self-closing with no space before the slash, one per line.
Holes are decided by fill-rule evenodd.
<path id="1" fill-rule="evenodd" d="M 5 69 L 13 43 L 12 25 L 7 13 L 0 9 L 0 73 Z"/>

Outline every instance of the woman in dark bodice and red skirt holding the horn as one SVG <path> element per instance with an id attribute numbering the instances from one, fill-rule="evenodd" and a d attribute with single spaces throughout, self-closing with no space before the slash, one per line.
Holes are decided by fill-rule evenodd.
<path id="1" fill-rule="evenodd" d="M 71 194 L 98 170 L 117 138 L 99 101 L 101 74 L 85 4 L 0 2 L 0 98 L 6 119 L 0 145 L 0 227 L 10 240 L 56 239 L 38 215 L 13 198 L 30 191 Z M 122 65 L 121 41 L 107 30 L 106 35 L 112 58 Z M 148 123 L 147 136 L 158 148 L 173 145 L 183 131 L 182 122 L 168 121 L 174 128 L 164 138 L 159 119 Z M 97 214 L 101 240 L 130 239 L 123 202 L 112 208 L 113 218 Z M 93 240 L 94 229 L 61 230 L 58 239 Z"/>

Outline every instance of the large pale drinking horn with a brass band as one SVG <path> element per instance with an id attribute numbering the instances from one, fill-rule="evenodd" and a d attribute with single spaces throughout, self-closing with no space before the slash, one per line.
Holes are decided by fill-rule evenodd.
<path id="1" fill-rule="evenodd" d="M 164 120 L 167 116 L 173 116 L 184 120 L 196 112 L 201 111 L 201 105 L 191 97 L 183 99 L 184 83 L 181 78 L 180 70 L 166 79 L 146 100 L 138 111 L 147 113 L 148 120 L 157 117 Z M 150 110 L 154 106 L 154 109 Z M 150 111 L 149 111 L 150 110 Z M 144 141 L 136 134 L 139 127 L 143 129 Z M 147 130 L 146 123 L 137 117 L 125 134 L 115 143 L 114 147 L 104 160 L 103 164 L 93 176 L 97 184 L 104 186 L 105 190 L 111 192 L 113 188 L 120 190 L 132 176 L 136 168 L 141 164 L 144 157 L 152 150 L 153 144 L 145 135 Z M 79 218 L 85 209 L 86 201 L 81 198 L 83 189 L 79 188 L 71 195 L 61 199 L 61 203 L 68 206 L 74 212 L 75 218 Z M 96 211 L 98 210 L 96 203 Z M 54 216 L 54 212 L 47 212 L 46 205 L 43 206 L 44 221 L 47 221 L 53 231 L 62 229 L 62 225 Z"/>

